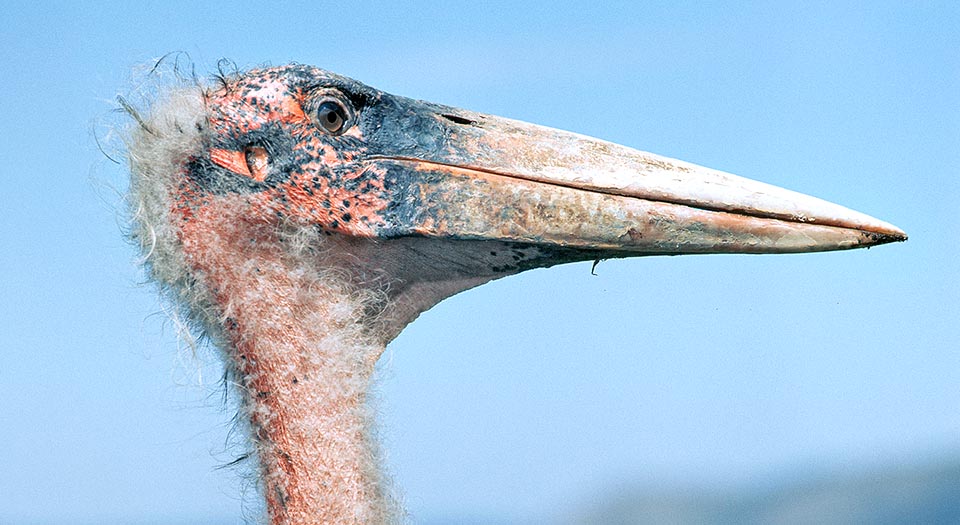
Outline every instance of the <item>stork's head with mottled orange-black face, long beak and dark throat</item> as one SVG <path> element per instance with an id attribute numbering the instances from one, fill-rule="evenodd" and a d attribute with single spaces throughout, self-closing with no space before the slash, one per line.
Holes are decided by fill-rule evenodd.
<path id="1" fill-rule="evenodd" d="M 385 339 L 444 297 L 530 268 L 906 239 L 890 224 L 813 197 L 390 95 L 313 67 L 220 80 L 185 97 L 190 116 L 152 116 L 138 132 L 137 142 L 153 141 L 152 155 L 166 155 L 172 167 L 154 173 L 134 159 L 135 174 L 153 173 L 166 188 L 164 218 L 153 228 L 170 234 L 191 282 L 217 265 L 196 255 L 211 231 L 240 232 L 220 236 L 240 251 L 300 242 L 277 234 L 290 228 L 325 239 L 318 264 L 387 292 Z"/>

